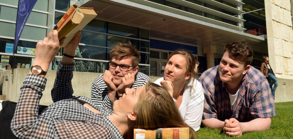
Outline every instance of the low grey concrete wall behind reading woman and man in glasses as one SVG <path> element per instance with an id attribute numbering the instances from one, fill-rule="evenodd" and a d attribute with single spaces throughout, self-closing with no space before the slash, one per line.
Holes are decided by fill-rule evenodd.
<path id="1" fill-rule="evenodd" d="M 9 80 L 4 80 L 3 82 L 3 95 L 6 95 L 6 99 L 11 100 L 13 102 L 17 102 L 20 87 L 22 86 L 23 80 L 26 75 L 29 73 L 29 69 L 14 69 L 14 81 L 11 81 L 11 70 L 7 70 L 5 72 L 0 73 L 0 77 L 2 78 L 5 75 L 9 76 Z M 95 78 L 102 73 L 88 73 L 88 72 L 73 72 L 72 79 L 72 87 L 74 90 L 74 96 L 85 96 L 91 98 L 91 90 L 92 90 L 92 82 Z M 49 70 L 46 78 L 47 85 L 45 90 L 43 91 L 43 96 L 40 100 L 40 105 L 50 105 L 53 103 L 51 97 L 51 89 L 53 88 L 54 81 L 56 77 L 56 71 Z M 0 78 L 0 79 L 1 79 Z M 152 77 L 150 76 L 152 82 L 157 80 L 160 77 Z"/>

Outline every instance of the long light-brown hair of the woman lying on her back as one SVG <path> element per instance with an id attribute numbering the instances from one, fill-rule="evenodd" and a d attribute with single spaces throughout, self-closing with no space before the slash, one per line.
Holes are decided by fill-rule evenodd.
<path id="1" fill-rule="evenodd" d="M 125 138 L 133 139 L 134 128 L 189 128 L 189 138 L 196 138 L 193 128 L 184 123 L 171 95 L 161 86 L 148 82 L 146 93 L 141 94 L 134 107 L 136 120 L 132 122 Z"/>

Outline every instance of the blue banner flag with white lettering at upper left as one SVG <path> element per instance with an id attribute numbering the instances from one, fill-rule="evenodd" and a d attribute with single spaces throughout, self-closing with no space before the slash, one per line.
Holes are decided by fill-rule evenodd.
<path id="1" fill-rule="evenodd" d="M 17 19 L 16 19 L 16 28 L 15 28 L 15 38 L 14 38 L 14 51 L 17 48 L 17 43 L 19 41 L 20 35 L 22 33 L 23 28 L 25 27 L 25 23 L 27 22 L 28 16 L 32 11 L 32 8 L 35 6 L 37 0 L 19 0 L 18 1 L 18 9 L 17 9 Z"/>

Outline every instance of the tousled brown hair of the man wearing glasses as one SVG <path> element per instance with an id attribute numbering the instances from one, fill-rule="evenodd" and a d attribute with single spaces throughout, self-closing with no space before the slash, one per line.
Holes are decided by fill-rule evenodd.
<path id="1" fill-rule="evenodd" d="M 115 58 L 117 60 L 131 58 L 132 66 L 138 66 L 141 58 L 138 50 L 130 42 L 128 44 L 118 42 L 110 51 L 110 57 L 111 59 Z"/>

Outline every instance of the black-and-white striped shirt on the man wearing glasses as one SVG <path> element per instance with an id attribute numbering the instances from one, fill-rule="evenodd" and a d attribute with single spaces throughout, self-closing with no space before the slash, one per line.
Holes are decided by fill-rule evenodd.
<path id="1" fill-rule="evenodd" d="M 136 87 L 146 85 L 147 82 L 151 81 L 149 76 L 137 72 L 134 77 L 134 83 L 131 85 L 131 88 L 135 89 Z M 103 80 L 103 74 L 98 76 L 92 83 L 92 102 L 97 106 L 103 106 L 113 110 L 113 102 L 111 101 L 108 94 L 108 87 Z M 118 98 L 116 98 L 118 99 Z"/>

